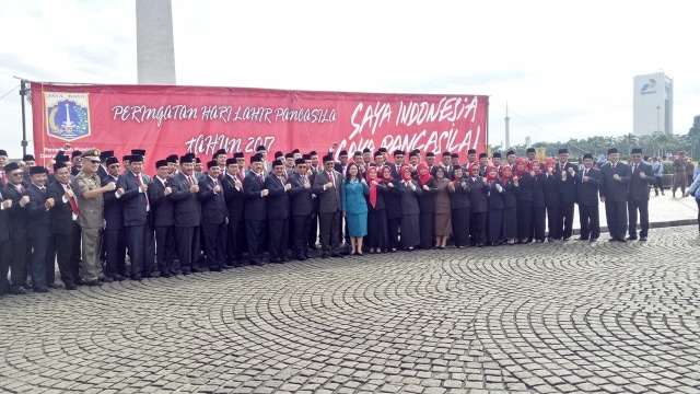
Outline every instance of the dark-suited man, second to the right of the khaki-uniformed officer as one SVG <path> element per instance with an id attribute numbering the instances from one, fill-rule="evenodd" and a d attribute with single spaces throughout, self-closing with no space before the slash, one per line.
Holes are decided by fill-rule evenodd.
<path id="1" fill-rule="evenodd" d="M 143 158 L 132 154 L 129 170 L 119 175 L 115 197 L 121 201 L 124 227 L 127 233 L 127 246 L 131 256 L 131 280 L 149 278 L 153 271 L 153 258 L 148 258 L 148 244 L 152 242 L 153 232 L 149 213 L 151 205 L 148 196 L 148 181 L 141 173 Z"/>

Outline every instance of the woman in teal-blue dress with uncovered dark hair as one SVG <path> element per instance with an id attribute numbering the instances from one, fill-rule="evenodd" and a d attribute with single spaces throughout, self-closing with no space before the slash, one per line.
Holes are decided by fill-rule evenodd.
<path id="1" fill-rule="evenodd" d="M 342 217 L 350 234 L 350 255 L 362 256 L 362 237 L 368 234 L 368 202 L 370 186 L 355 163 L 350 163 L 342 183 Z"/>

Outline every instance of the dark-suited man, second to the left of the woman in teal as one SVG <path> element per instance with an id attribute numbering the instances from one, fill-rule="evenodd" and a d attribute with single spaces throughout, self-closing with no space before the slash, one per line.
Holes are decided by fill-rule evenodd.
<path id="1" fill-rule="evenodd" d="M 308 239 L 313 212 L 312 181 L 308 178 L 308 171 L 306 170 L 306 161 L 304 159 L 296 159 L 294 164 L 295 173 L 289 178 L 289 184 L 292 185 L 292 188 L 288 193 L 292 221 L 292 250 L 294 251 L 294 257 L 303 262 L 310 257 L 306 240 Z M 314 225 L 316 223 L 314 223 Z"/>

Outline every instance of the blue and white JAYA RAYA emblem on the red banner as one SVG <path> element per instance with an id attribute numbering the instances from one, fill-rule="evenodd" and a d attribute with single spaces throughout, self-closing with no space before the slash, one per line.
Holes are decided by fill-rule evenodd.
<path id="1" fill-rule="evenodd" d="M 63 141 L 90 136 L 89 94 L 44 92 L 47 134 Z"/>

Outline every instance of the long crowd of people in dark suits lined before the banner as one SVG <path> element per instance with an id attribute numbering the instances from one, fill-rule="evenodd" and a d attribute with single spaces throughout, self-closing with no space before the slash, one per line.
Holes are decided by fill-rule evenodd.
<path id="1" fill-rule="evenodd" d="M 9 162 L 0 150 L 0 296 L 60 288 L 56 262 L 74 290 L 202 267 L 568 241 L 576 204 L 575 240 L 595 242 L 598 200 L 609 241 L 646 241 L 656 184 L 640 149 L 628 164 L 611 148 L 598 167 L 591 154 L 574 165 L 567 149 L 544 163 L 534 149 L 504 161 L 470 149 L 460 164 L 456 152 L 413 150 L 406 161 L 385 148 L 340 151 L 336 161 L 337 144 L 322 157 L 294 150 L 268 160 L 258 147 L 248 158 L 220 150 L 208 162 L 173 154 L 151 177 L 144 150 L 120 161 L 97 149 L 68 157 L 69 148 L 49 169 L 31 155 Z"/>

